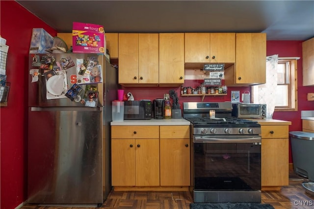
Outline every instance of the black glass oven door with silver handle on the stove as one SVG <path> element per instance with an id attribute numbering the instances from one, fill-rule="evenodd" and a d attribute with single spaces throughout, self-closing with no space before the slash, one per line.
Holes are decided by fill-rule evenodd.
<path id="1" fill-rule="evenodd" d="M 194 190 L 261 190 L 261 137 L 194 136 Z"/>

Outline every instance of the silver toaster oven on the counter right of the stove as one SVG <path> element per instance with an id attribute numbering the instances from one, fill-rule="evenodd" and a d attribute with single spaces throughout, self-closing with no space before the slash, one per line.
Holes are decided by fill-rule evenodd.
<path id="1" fill-rule="evenodd" d="M 265 118 L 266 104 L 232 104 L 232 116 L 237 118 Z"/>

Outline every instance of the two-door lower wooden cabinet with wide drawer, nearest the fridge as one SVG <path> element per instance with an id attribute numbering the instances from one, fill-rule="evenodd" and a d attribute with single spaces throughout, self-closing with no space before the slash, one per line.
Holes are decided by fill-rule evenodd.
<path id="1" fill-rule="evenodd" d="M 158 126 L 111 127 L 111 183 L 112 186 L 159 185 Z"/>

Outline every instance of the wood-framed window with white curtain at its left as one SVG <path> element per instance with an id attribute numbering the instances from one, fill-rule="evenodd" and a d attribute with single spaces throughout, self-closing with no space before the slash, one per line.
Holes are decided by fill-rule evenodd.
<path id="1" fill-rule="evenodd" d="M 252 86 L 253 101 L 270 104 L 271 111 L 297 111 L 297 60 L 299 57 L 276 58 L 276 56 L 278 57 L 278 55 L 273 55 L 266 59 L 266 63 L 268 62 L 266 83 Z"/>

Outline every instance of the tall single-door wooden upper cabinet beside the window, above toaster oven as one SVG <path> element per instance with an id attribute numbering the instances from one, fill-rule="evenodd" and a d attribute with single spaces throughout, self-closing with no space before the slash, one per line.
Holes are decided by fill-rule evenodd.
<path id="1" fill-rule="evenodd" d="M 235 65 L 225 69 L 225 84 L 255 85 L 266 82 L 266 33 L 235 34 Z"/>

